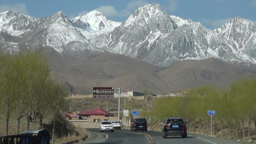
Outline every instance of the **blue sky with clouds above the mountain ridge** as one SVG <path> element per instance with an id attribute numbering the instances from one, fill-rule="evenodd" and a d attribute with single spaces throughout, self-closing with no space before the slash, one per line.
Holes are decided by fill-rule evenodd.
<path id="1" fill-rule="evenodd" d="M 15 10 L 42 18 L 63 11 L 73 18 L 97 9 L 110 20 L 125 21 L 138 7 L 160 4 L 169 15 L 214 29 L 235 16 L 256 22 L 256 0 L 0 0 L 0 12 Z"/>

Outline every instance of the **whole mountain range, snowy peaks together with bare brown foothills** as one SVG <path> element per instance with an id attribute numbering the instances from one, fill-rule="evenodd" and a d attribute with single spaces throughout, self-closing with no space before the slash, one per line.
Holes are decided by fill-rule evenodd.
<path id="1" fill-rule="evenodd" d="M 50 61 L 52 73 L 62 77 L 62 80 L 72 86 L 76 85 L 77 80 L 84 81 L 84 83 L 77 82 L 76 89 L 79 89 L 79 85 L 83 85 L 80 88 L 81 91 L 77 92 L 88 93 L 91 85 L 102 85 L 102 81 L 98 80 L 100 78 L 107 79 L 105 85 L 131 79 L 144 87 L 124 85 L 129 90 L 152 89 L 167 92 L 170 86 L 176 90 L 214 83 L 214 86 L 218 87 L 218 85 L 230 83 L 235 77 L 252 76 L 255 73 L 254 65 L 256 64 L 256 24 L 249 19 L 237 16 L 221 28 L 210 30 L 191 19 L 168 15 L 158 4 L 139 7 L 123 22 L 110 21 L 97 10 L 75 18 L 68 18 L 61 11 L 52 16 L 33 18 L 10 10 L 0 13 L 0 47 L 8 53 L 19 53 L 25 50 L 44 52 L 52 60 Z M 88 62 L 91 62 L 92 59 L 101 59 L 102 56 L 106 62 L 111 62 L 106 66 L 95 62 L 94 64 L 98 65 L 97 70 L 100 70 L 101 67 L 109 67 L 113 71 L 107 73 L 102 69 L 98 75 L 93 76 L 97 70 L 93 69 Z M 120 64 L 113 59 L 110 60 L 111 58 L 109 59 L 108 56 L 118 57 L 118 59 L 123 56 L 126 61 L 122 61 Z M 62 61 L 58 61 L 56 57 Z M 131 65 L 131 61 L 135 61 L 131 58 L 138 59 L 138 61 Z M 68 59 L 74 62 L 73 65 L 78 64 L 79 68 L 72 66 Z M 222 61 L 221 65 L 229 65 L 228 67 L 231 69 L 221 72 L 218 68 L 223 67 L 216 67 L 216 71 L 219 73 L 212 73 L 212 71 L 209 72 L 210 70 L 199 68 L 199 65 L 195 66 L 199 68 L 199 71 L 186 65 L 200 63 L 196 60 L 212 62 L 209 65 L 215 65 L 216 62 L 220 64 Z M 63 64 L 73 69 L 65 72 Z M 137 74 L 138 70 L 132 70 L 134 73 L 125 72 L 127 75 L 120 75 L 114 71 L 129 71 L 129 68 L 119 70 L 115 64 L 129 68 L 140 65 L 149 71 L 143 70 L 143 73 L 139 75 Z M 91 72 L 82 68 L 82 65 L 88 69 L 92 68 Z M 144 65 L 150 65 L 148 67 L 152 67 L 154 70 Z M 177 65 L 179 67 L 176 68 L 179 68 L 180 71 L 170 69 Z M 185 65 L 190 69 L 182 68 Z M 235 67 L 240 68 L 236 69 Z M 77 73 L 76 70 L 81 70 L 86 75 L 83 75 L 83 78 L 77 74 L 72 76 L 71 71 Z M 184 72 L 188 70 L 187 74 L 182 70 Z M 191 70 L 190 73 L 189 70 Z M 175 73 L 176 75 L 174 75 Z M 230 74 L 227 74 L 226 77 L 217 76 L 222 73 Z M 231 73 L 234 75 L 229 76 L 232 75 Z M 235 76 L 235 73 L 239 76 Z M 192 75 L 190 76 L 190 74 Z M 197 76 L 207 78 L 199 80 Z M 190 77 L 197 78 L 192 80 Z M 217 77 L 222 78 L 220 80 Z M 191 82 L 186 82 L 185 79 L 191 79 Z M 218 79 L 221 84 L 218 84 Z M 150 81 L 149 85 L 145 84 L 146 80 Z M 173 80 L 178 83 L 173 85 Z M 213 80 L 215 81 L 213 82 Z M 227 80 L 227 82 L 222 83 L 222 80 Z M 86 82 L 88 86 L 84 86 L 85 81 L 88 81 L 88 83 Z M 139 85 L 138 83 L 137 85 Z M 122 84 L 120 83 L 120 85 Z"/>

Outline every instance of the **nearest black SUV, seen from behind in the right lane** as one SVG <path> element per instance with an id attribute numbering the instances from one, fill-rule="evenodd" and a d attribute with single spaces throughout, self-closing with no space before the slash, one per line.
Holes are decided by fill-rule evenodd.
<path id="1" fill-rule="evenodd" d="M 162 123 L 162 137 L 167 138 L 168 135 L 177 136 L 181 135 L 182 138 L 188 137 L 186 124 L 180 117 L 167 118 Z"/>

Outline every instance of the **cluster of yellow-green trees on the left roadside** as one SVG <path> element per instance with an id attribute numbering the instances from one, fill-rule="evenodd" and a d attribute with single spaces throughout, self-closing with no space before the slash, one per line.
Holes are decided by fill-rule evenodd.
<path id="1" fill-rule="evenodd" d="M 17 120 L 17 134 L 23 117 L 27 119 L 29 129 L 33 113 L 39 117 L 40 129 L 48 115 L 54 125 L 62 111 L 67 109 L 69 93 L 63 83 L 53 80 L 43 55 L 37 52 L 19 55 L 0 52 L 0 67 L 0 111 L 5 117 L 6 135 L 9 134 L 11 114 Z"/>

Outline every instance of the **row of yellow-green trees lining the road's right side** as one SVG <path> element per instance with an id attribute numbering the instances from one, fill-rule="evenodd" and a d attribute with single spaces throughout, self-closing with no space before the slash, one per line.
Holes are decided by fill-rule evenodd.
<path id="1" fill-rule="evenodd" d="M 225 135 L 227 138 L 232 138 L 231 134 L 236 138 L 250 138 L 251 125 L 256 126 L 256 78 L 233 82 L 228 90 L 201 86 L 184 96 L 158 98 L 152 111 L 143 113 L 143 117 L 154 122 L 151 126 L 157 126 L 156 123 L 161 123 L 167 117 L 182 117 L 189 131 L 205 134 L 210 125 L 207 110 L 216 110 L 216 115 L 213 116 L 215 135 L 217 131 L 221 131 L 223 137 L 225 128 L 228 130 Z"/>

